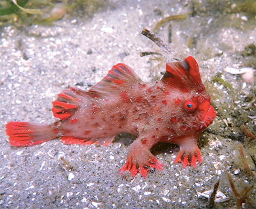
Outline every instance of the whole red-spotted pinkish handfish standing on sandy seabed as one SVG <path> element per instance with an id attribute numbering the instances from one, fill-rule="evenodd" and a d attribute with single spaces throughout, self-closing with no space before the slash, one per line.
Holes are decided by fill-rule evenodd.
<path id="1" fill-rule="evenodd" d="M 113 66 L 90 90 L 71 87 L 52 102 L 53 124 L 9 122 L 6 134 L 12 146 L 30 146 L 60 137 L 65 144 L 108 145 L 116 134 L 137 136 L 130 145 L 121 174 L 128 170 L 143 177 L 163 164 L 150 152 L 157 142 L 180 145 L 175 163 L 196 167 L 201 162 L 198 136 L 212 123 L 215 110 L 202 84 L 198 64 L 191 56 L 166 64 L 156 82 L 145 84 L 125 64 Z"/>

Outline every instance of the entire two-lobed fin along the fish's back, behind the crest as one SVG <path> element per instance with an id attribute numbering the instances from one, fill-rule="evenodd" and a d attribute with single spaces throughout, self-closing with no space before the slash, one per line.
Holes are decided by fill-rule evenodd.
<path id="1" fill-rule="evenodd" d="M 116 64 L 108 72 L 108 75 L 99 81 L 89 91 L 71 87 L 58 94 L 57 99 L 52 102 L 53 116 L 61 120 L 68 119 L 83 104 L 85 98 L 95 97 L 104 98 L 113 91 L 120 91 L 122 88 L 132 86 L 140 81 L 138 75 L 125 64 Z"/>

